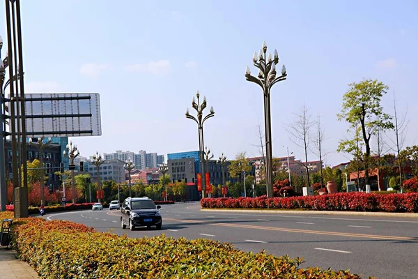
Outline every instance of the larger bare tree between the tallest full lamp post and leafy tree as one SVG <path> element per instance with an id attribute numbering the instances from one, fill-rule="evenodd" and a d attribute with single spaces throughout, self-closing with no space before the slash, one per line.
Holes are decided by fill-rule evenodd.
<path id="1" fill-rule="evenodd" d="M 304 149 L 305 164 L 304 167 L 307 171 L 308 187 L 311 186 L 309 179 L 309 166 L 308 166 L 308 149 L 310 142 L 310 130 L 314 126 L 315 122 L 311 121 L 311 115 L 309 109 L 304 104 L 300 108 L 300 114 L 296 114 L 296 120 L 291 125 L 288 125 L 288 132 L 291 134 L 291 141 Z"/>

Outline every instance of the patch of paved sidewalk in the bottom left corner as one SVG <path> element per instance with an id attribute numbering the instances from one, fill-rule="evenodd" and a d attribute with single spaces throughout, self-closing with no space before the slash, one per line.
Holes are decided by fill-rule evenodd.
<path id="1" fill-rule="evenodd" d="M 0 279 L 38 278 L 29 264 L 17 258 L 15 250 L 0 247 Z"/>

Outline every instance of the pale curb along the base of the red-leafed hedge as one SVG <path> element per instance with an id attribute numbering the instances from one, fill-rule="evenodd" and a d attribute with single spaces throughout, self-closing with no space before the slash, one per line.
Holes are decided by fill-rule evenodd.
<path id="1" fill-rule="evenodd" d="M 244 212 L 244 213 L 280 213 L 280 214 L 311 214 L 311 215 L 344 215 L 344 216 L 378 216 L 378 217 L 399 217 L 399 218 L 418 218 L 418 213 L 393 213 L 393 212 L 358 212 L 358 211 L 297 211 L 297 210 L 251 210 L 251 209 L 201 209 L 206 212 Z"/>

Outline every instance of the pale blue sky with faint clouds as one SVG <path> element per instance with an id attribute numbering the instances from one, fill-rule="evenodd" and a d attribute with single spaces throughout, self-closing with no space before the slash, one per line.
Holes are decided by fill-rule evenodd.
<path id="1" fill-rule="evenodd" d="M 288 126 L 305 104 L 312 120 L 321 116 L 325 164 L 348 161 L 336 152 L 348 128 L 336 114 L 348 84 L 365 78 L 389 86 L 389 114 L 396 93 L 405 146 L 418 144 L 417 1 L 44 0 L 21 10 L 26 93 L 100 93 L 102 135 L 72 138 L 82 156 L 198 150 L 197 125 L 185 118 L 196 90 L 215 110 L 203 128 L 215 158 L 261 156 L 263 95 L 244 74 L 257 73 L 252 55 L 264 40 L 288 73 L 271 91 L 273 156 L 288 148 L 303 158 Z M 3 5 L 0 15 L 6 41 Z"/>

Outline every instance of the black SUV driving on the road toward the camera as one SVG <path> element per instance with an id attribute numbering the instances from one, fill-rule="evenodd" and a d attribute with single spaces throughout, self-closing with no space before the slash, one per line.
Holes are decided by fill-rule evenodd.
<path id="1" fill-rule="evenodd" d="M 156 226 L 162 227 L 162 218 L 160 214 L 161 206 L 155 206 L 155 203 L 149 197 L 128 197 L 121 206 L 121 227 L 125 229 L 128 225 L 130 230 L 135 227 Z"/>

